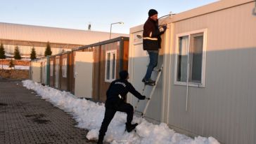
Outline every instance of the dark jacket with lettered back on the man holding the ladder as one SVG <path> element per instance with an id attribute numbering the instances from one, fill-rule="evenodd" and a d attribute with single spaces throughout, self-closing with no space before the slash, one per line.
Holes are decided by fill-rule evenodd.
<path id="1" fill-rule="evenodd" d="M 107 91 L 107 100 L 105 101 L 106 107 L 118 106 L 120 103 L 124 102 L 128 92 L 131 92 L 138 99 L 143 98 L 139 92 L 132 86 L 127 80 L 114 80 L 111 82 L 110 87 Z"/>

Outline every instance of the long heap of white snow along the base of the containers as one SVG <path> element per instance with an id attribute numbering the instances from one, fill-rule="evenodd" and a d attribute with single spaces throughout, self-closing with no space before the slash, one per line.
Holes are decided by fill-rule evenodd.
<path id="1" fill-rule="evenodd" d="M 105 107 L 103 103 L 94 103 L 86 99 L 77 99 L 70 92 L 62 92 L 48 86 L 42 86 L 32 80 L 23 80 L 23 86 L 27 89 L 33 89 L 42 99 L 50 101 L 54 106 L 70 113 L 78 122 L 77 127 L 88 129 L 87 138 L 89 140 L 98 139 L 98 130 L 101 127 Z M 167 124 L 152 124 L 141 117 L 134 116 L 133 123 L 137 122 L 136 132 L 128 133 L 124 131 L 126 114 L 117 112 L 108 126 L 108 131 L 104 141 L 112 144 L 117 143 L 141 143 L 141 144 L 219 144 L 212 137 L 205 138 L 198 136 L 190 138 L 184 134 L 176 133 L 169 129 Z"/>

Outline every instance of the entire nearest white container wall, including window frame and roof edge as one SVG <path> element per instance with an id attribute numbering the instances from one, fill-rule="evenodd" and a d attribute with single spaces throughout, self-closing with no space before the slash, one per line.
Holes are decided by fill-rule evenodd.
<path id="1" fill-rule="evenodd" d="M 217 1 L 163 20 L 168 29 L 158 66 L 162 61 L 164 70 L 148 118 L 190 136 L 213 136 L 221 143 L 256 143 L 254 9 L 255 1 Z M 148 64 L 138 37 L 142 31 L 143 25 L 131 28 L 129 44 L 130 81 L 140 92 Z M 181 44 L 188 45 L 187 51 L 181 51 L 185 48 Z M 200 47 L 201 63 L 196 63 L 195 48 Z M 186 61 L 179 63 L 182 57 L 189 64 L 200 64 L 200 71 Z M 181 72 L 187 68 L 191 69 Z M 198 72 L 200 82 L 192 81 Z M 134 105 L 136 98 L 129 96 L 129 101 Z"/>

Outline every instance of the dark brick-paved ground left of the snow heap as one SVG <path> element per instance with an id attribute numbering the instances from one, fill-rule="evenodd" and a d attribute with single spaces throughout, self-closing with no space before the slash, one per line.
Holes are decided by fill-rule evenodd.
<path id="1" fill-rule="evenodd" d="M 0 143 L 95 143 L 75 120 L 20 81 L 0 80 Z"/>

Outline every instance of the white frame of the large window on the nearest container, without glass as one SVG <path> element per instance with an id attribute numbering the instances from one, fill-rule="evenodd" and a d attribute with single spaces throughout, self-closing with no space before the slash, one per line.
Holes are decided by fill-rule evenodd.
<path id="1" fill-rule="evenodd" d="M 175 47 L 175 66 L 174 66 L 174 85 L 187 85 L 187 82 L 177 81 L 177 70 L 178 70 L 178 55 L 179 55 L 179 38 L 183 36 L 188 36 L 188 60 L 191 61 L 191 36 L 196 34 L 203 34 L 203 53 L 202 53 L 202 69 L 201 69 L 201 81 L 191 82 L 191 73 L 189 73 L 188 86 L 190 87 L 205 87 L 205 64 L 206 64 L 206 46 L 207 46 L 207 29 L 200 29 L 196 31 L 189 31 L 186 33 L 181 33 L 176 35 L 176 47 Z M 187 67 L 191 72 L 191 67 Z"/>

